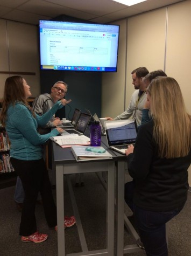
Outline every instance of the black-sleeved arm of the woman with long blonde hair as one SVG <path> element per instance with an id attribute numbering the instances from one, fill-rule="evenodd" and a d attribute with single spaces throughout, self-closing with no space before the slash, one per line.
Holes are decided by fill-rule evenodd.
<path id="1" fill-rule="evenodd" d="M 133 153 L 127 156 L 128 171 L 132 178 L 145 179 L 150 171 L 153 157 L 153 121 L 139 127 Z"/>

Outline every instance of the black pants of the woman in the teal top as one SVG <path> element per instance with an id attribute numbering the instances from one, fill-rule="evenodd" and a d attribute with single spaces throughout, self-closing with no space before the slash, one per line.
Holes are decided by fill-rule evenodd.
<path id="1" fill-rule="evenodd" d="M 34 212 L 39 191 L 43 200 L 47 224 L 49 227 L 56 226 L 56 206 L 52 196 L 48 170 L 43 158 L 34 161 L 23 161 L 11 157 L 11 164 L 20 177 L 25 192 L 19 234 L 30 236 L 37 231 Z"/>

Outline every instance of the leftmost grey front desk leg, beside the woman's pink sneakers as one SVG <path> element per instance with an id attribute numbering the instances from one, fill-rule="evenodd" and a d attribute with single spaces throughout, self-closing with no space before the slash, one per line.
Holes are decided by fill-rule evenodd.
<path id="1" fill-rule="evenodd" d="M 58 225 L 58 255 L 65 256 L 63 164 L 56 165 L 56 207 Z"/>

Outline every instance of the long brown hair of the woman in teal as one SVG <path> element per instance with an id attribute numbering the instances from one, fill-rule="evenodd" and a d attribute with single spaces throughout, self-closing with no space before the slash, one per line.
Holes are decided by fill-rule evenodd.
<path id="1" fill-rule="evenodd" d="M 23 78 L 20 75 L 13 75 L 8 77 L 5 81 L 3 106 L 0 116 L 0 121 L 5 126 L 6 112 L 10 104 L 13 106 L 17 101 L 22 102 L 26 107 L 30 108 L 29 103 L 25 98 L 25 91 L 23 86 Z"/>

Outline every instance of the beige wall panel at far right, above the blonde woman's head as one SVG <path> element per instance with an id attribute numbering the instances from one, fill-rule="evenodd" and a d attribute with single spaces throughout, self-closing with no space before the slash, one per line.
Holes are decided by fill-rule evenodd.
<path id="1" fill-rule="evenodd" d="M 186 108 L 191 114 L 191 1 L 168 8 L 166 72 L 178 81 Z M 191 167 L 188 170 L 191 186 Z"/>

